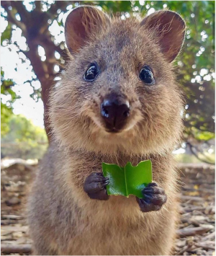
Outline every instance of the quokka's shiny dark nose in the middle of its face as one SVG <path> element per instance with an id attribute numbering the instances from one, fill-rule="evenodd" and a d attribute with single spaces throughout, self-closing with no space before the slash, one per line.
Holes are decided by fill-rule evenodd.
<path id="1" fill-rule="evenodd" d="M 130 104 L 126 100 L 117 100 L 114 97 L 107 98 L 102 102 L 101 114 L 107 129 L 117 132 L 125 125 L 130 115 Z"/>

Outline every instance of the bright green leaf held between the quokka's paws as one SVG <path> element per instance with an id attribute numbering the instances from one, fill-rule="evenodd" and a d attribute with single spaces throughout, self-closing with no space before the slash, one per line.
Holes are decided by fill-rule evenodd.
<path id="1" fill-rule="evenodd" d="M 152 182 L 150 160 L 142 161 L 135 167 L 131 162 L 127 162 L 125 167 L 103 162 L 102 169 L 104 177 L 109 177 L 108 195 L 136 195 L 143 198 L 142 190 Z"/>

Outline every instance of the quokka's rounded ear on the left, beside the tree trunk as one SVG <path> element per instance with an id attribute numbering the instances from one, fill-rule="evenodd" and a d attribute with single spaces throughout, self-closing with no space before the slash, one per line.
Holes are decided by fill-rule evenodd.
<path id="1" fill-rule="evenodd" d="M 78 52 L 102 27 L 107 27 L 107 14 L 93 6 L 78 6 L 68 14 L 65 25 L 66 44 L 71 54 Z"/>

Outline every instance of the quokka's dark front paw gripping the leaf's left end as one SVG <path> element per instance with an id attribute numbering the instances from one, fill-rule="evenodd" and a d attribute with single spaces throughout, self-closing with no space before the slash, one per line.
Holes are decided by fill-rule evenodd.
<path id="1" fill-rule="evenodd" d="M 109 178 L 104 177 L 102 172 L 93 172 L 86 177 L 84 183 L 84 191 L 89 195 L 89 198 L 98 200 L 108 200 L 106 185 L 109 184 Z"/>

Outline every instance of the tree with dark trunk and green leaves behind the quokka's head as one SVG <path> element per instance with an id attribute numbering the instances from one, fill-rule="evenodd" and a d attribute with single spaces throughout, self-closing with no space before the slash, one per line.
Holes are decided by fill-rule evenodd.
<path id="1" fill-rule="evenodd" d="M 186 21 L 186 38 L 176 59 L 176 74 L 186 95 L 184 124 L 185 141 L 207 141 L 215 135 L 215 1 L 1 1 L 1 19 L 7 21 L 1 34 L 2 51 L 16 54 L 15 71 L 27 63 L 36 101 L 42 98 L 45 108 L 45 129 L 50 88 L 58 80 L 67 62 L 63 37 L 66 14 L 79 4 L 98 6 L 110 15 L 127 19 L 143 16 L 158 9 L 178 12 Z M 19 34 L 19 35 L 18 35 Z M 16 35 L 16 36 L 15 36 Z M 3 133 L 8 132 L 7 117 L 12 113 L 17 95 L 16 82 L 1 69 L 1 101 Z M 40 87 L 35 87 L 35 81 Z"/>

